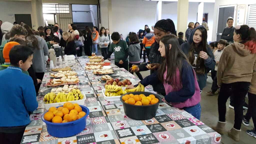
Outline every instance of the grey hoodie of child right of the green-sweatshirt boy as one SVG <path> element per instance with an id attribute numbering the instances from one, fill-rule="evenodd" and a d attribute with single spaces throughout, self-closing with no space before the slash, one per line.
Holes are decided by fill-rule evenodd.
<path id="1" fill-rule="evenodd" d="M 141 53 L 141 46 L 139 43 L 130 44 L 129 49 L 129 63 L 131 64 L 138 64 L 141 62 L 140 53 Z"/>

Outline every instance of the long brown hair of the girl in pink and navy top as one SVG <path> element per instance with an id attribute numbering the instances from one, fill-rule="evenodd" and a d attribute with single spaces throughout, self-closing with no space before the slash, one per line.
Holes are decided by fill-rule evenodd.
<path id="1" fill-rule="evenodd" d="M 177 89 L 182 85 L 182 61 L 186 60 L 188 62 L 188 59 L 180 49 L 176 35 L 170 34 L 163 36 L 160 41 L 164 44 L 165 47 L 165 57 L 164 61 L 160 64 L 160 67 L 158 68 L 158 78 L 162 82 L 166 82 L 169 85 L 172 85 L 174 89 Z M 169 49 L 169 45 L 172 45 L 171 49 Z M 166 79 L 164 79 L 164 73 L 166 71 L 166 68 L 167 74 Z M 177 69 L 179 70 L 179 79 L 176 79 Z M 177 85 L 177 82 L 179 82 L 180 85 Z"/>

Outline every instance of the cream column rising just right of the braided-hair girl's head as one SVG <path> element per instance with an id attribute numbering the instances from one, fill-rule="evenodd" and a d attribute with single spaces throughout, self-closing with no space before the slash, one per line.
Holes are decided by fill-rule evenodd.
<path id="1" fill-rule="evenodd" d="M 185 33 L 187 30 L 188 22 L 188 0 L 178 0 L 178 10 L 177 10 L 177 34 L 179 32 L 184 33 L 183 39 L 185 39 Z"/>

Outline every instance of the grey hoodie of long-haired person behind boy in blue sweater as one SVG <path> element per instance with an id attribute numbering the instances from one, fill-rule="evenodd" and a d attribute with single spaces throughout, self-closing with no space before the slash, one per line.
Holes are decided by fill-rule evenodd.
<path id="1" fill-rule="evenodd" d="M 29 41 L 27 46 L 32 47 L 32 50 L 34 52 L 33 59 L 32 59 L 34 70 L 36 73 L 44 73 L 45 67 L 46 67 L 45 56 L 49 55 L 49 49 L 48 49 L 48 46 L 47 46 L 45 40 L 42 37 L 37 36 L 37 35 L 33 35 L 33 36 L 35 36 L 37 38 L 39 49 L 33 47 L 32 40 L 29 39 L 29 37 L 27 39 Z"/>

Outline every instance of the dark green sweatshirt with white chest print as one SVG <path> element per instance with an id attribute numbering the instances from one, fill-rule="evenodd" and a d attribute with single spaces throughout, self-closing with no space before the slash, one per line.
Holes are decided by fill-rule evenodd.
<path id="1" fill-rule="evenodd" d="M 109 52 L 111 52 L 111 54 L 114 52 L 115 62 L 119 62 L 120 60 L 125 62 L 128 60 L 128 46 L 124 40 L 120 39 L 120 42 L 117 44 L 111 43 Z M 106 56 L 105 58 L 107 59 L 108 57 Z"/>

